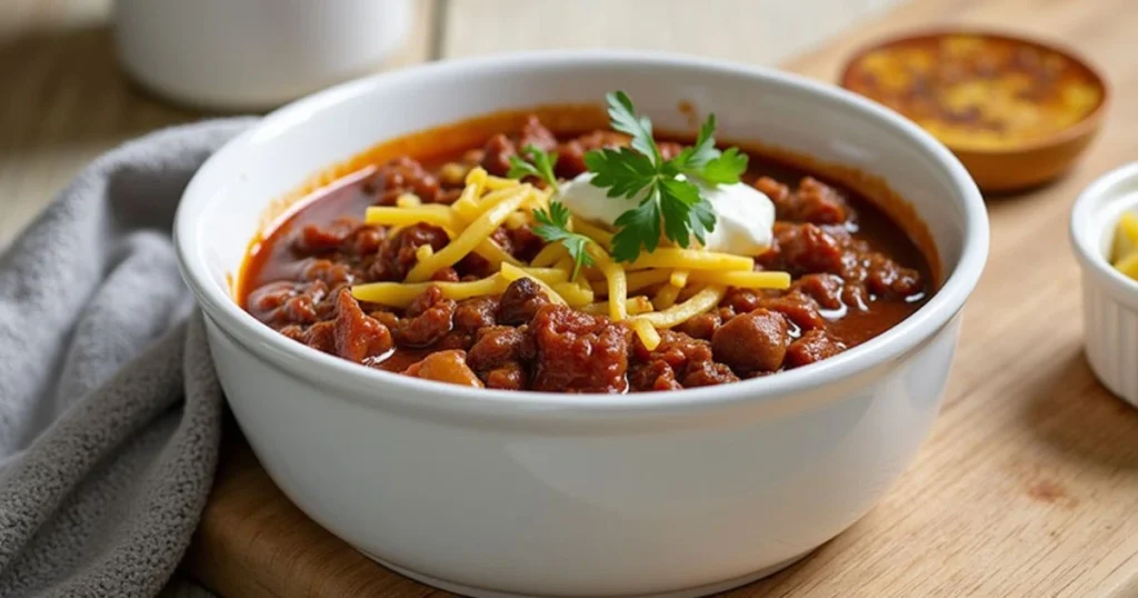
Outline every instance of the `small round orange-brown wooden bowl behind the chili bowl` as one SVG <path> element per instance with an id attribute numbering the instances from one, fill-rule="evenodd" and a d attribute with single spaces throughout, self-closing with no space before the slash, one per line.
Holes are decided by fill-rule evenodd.
<path id="1" fill-rule="evenodd" d="M 880 52 L 885 51 L 914 51 L 927 49 L 930 47 L 937 48 L 935 51 L 938 52 L 948 51 L 945 48 L 948 47 L 948 43 L 953 43 L 954 40 L 964 40 L 968 43 L 988 44 L 987 51 L 981 51 L 981 55 L 978 56 L 981 62 L 987 62 L 990 72 L 956 72 L 955 75 L 958 76 L 958 79 L 954 81 L 951 80 L 954 74 L 946 71 L 947 68 L 950 68 L 949 62 L 932 59 L 926 62 L 924 66 L 927 73 L 917 75 L 916 71 L 908 72 L 906 76 L 914 77 L 914 81 L 912 81 L 913 84 L 909 85 L 908 89 L 894 90 L 892 95 L 888 95 L 883 91 L 876 93 L 881 90 L 865 89 L 867 76 L 874 76 L 866 72 L 865 65 L 867 57 L 883 56 Z M 997 57 L 1001 56 L 1000 52 L 1003 52 L 1004 60 L 1003 64 L 997 64 L 999 62 L 997 60 Z M 1050 58 L 1053 56 L 1062 60 Z M 1008 77 L 1019 77 L 1020 81 L 1017 82 L 1022 83 L 1024 77 L 1028 77 L 1026 84 L 1038 83 L 1039 85 L 1046 88 L 1045 91 L 1059 89 L 1059 85 L 1050 84 L 1046 79 L 1032 80 L 1030 79 L 1031 75 L 1028 74 L 1028 71 L 1020 71 L 1021 68 L 1028 68 L 1028 66 L 1020 60 L 1026 60 L 1031 57 L 1034 57 L 1034 59 L 1038 60 L 1050 59 L 1061 65 L 1058 68 L 1062 68 L 1062 73 L 1065 77 L 1067 77 L 1067 82 L 1071 80 L 1078 81 L 1078 83 L 1085 89 L 1094 89 L 1097 92 L 1097 103 L 1088 103 L 1088 106 L 1090 106 L 1089 108 L 1085 108 L 1080 112 L 1072 110 L 1063 115 L 1077 118 L 1069 124 L 1050 131 L 1033 131 L 1020 139 L 1006 139 L 1000 141 L 998 146 L 995 144 L 986 145 L 982 142 L 973 144 L 960 141 L 962 137 L 972 134 L 964 131 L 966 125 L 974 124 L 967 122 L 968 118 L 983 117 L 980 114 L 978 106 L 970 106 L 970 108 L 972 108 L 971 113 L 942 114 L 945 121 L 933 123 L 937 125 L 943 125 L 951 118 L 963 118 L 964 123 L 959 124 L 962 129 L 957 129 L 954 132 L 955 139 L 948 139 L 946 134 L 938 132 L 937 130 L 931 130 L 929 123 L 926 121 L 923 122 L 922 115 L 918 115 L 915 112 L 920 108 L 948 109 L 941 100 L 947 96 L 949 87 L 957 83 L 963 83 L 965 85 L 971 83 L 982 85 L 988 84 L 983 81 L 999 77 L 1005 77 L 1005 81 L 1008 81 Z M 1036 64 L 1034 66 L 1038 67 L 1039 64 Z M 914 65 L 912 68 L 916 69 L 917 66 Z M 982 66 L 976 66 L 975 68 L 980 69 Z M 1032 74 L 1036 76 L 1042 76 L 1040 71 L 1034 71 Z M 948 83 L 942 83 L 942 81 L 930 81 L 927 79 L 920 81 L 916 80 L 918 76 L 930 75 L 941 80 L 949 79 L 950 81 Z M 873 82 L 875 83 L 876 81 L 874 80 Z M 997 83 L 990 84 L 996 85 Z M 1012 84 L 1012 82 L 1008 81 L 1007 84 Z M 1064 85 L 1066 83 L 1064 83 Z M 930 129 L 930 132 L 934 137 L 945 142 L 945 145 L 948 146 L 948 148 L 951 149 L 958 158 L 960 158 L 960 162 L 964 163 L 964 166 L 967 167 L 973 179 L 975 179 L 976 185 L 982 190 L 995 192 L 1023 190 L 1048 182 L 1066 172 L 1074 164 L 1075 158 L 1078 158 L 1083 149 L 1087 148 L 1087 146 L 1095 138 L 1095 134 L 1098 132 L 1103 116 L 1106 113 L 1110 96 L 1106 80 L 1092 66 L 1090 66 L 1087 60 L 1080 58 L 1071 50 L 1056 47 L 1052 43 L 1044 43 L 1020 36 L 986 31 L 932 31 L 893 38 L 884 42 L 863 48 L 857 51 L 852 58 L 850 58 L 850 60 L 846 64 L 846 67 L 842 69 L 841 85 L 846 89 L 880 101 L 885 106 L 900 112 L 905 116 L 913 118 L 926 129 Z M 938 89 L 938 85 L 942 87 Z M 1049 85 L 1049 88 L 1047 85 Z M 901 87 L 904 88 L 905 85 Z M 941 95 L 934 96 L 938 91 L 940 91 Z M 975 91 L 975 89 L 972 91 Z M 1034 103 L 1036 106 L 1042 106 L 1047 98 L 1037 101 L 1038 98 L 1017 95 L 1015 96 L 1015 99 Z M 902 103 L 906 101 L 909 104 L 902 105 Z M 986 105 L 987 107 L 995 106 L 995 103 L 997 101 L 1006 101 L 1006 98 L 998 98 L 995 95 L 989 95 L 986 96 L 986 99 L 979 100 L 980 104 Z M 917 103 L 924 104 L 923 106 L 920 106 Z M 1007 108 L 1007 106 L 1005 106 L 1005 108 Z M 957 124 L 949 123 L 948 126 L 957 126 Z M 976 132 L 976 134 L 979 136 L 984 133 Z"/>

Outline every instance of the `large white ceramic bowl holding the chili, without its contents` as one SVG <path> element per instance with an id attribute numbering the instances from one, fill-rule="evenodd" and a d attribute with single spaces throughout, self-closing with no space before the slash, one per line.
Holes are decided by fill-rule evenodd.
<path id="1" fill-rule="evenodd" d="M 376 142 L 508 108 L 624 89 L 661 128 L 678 100 L 725 136 L 884 177 L 929 224 L 942 288 L 885 334 L 806 368 L 669 393 L 488 392 L 397 376 L 295 343 L 229 294 L 258 215 Z M 756 579 L 861 517 L 940 406 L 959 312 L 988 253 L 979 191 L 932 137 L 798 76 L 622 52 L 486 57 L 348 83 L 214 155 L 175 224 L 230 406 L 316 522 L 396 571 L 483 596 L 695 595 Z"/>

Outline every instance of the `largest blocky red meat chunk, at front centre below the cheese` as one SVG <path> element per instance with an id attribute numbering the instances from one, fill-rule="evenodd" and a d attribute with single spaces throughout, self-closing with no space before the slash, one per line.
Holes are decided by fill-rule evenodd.
<path id="1" fill-rule="evenodd" d="M 522 345 L 523 357 L 534 362 L 533 390 L 625 392 L 630 336 L 629 328 L 608 318 L 564 305 L 542 306 Z"/>

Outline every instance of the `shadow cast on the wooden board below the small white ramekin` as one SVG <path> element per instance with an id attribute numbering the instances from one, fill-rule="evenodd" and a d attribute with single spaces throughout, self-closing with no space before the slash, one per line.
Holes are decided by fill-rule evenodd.
<path id="1" fill-rule="evenodd" d="M 1098 382 L 1081 346 L 1058 355 L 1024 385 L 1030 399 L 1023 404 L 1023 424 L 1052 454 L 1025 458 L 1077 459 L 1108 472 L 1138 472 L 1138 443 L 1133 441 L 1138 409 Z"/>

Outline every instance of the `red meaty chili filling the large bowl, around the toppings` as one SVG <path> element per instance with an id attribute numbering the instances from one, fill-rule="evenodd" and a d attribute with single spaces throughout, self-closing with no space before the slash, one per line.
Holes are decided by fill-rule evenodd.
<path id="1" fill-rule="evenodd" d="M 558 151 L 556 174 L 571 179 L 585 171 L 585 151 L 625 142 L 607 130 L 554 134 L 533 116 L 520 130 L 463 148 L 385 159 L 314 194 L 266 234 L 242 269 L 238 300 L 284 336 L 366 367 L 498 390 L 619 393 L 808 366 L 896 326 L 934 290 L 922 251 L 869 198 L 820 172 L 749 151 L 744 181 L 770 197 L 777 215 L 774 246 L 754 256 L 756 269 L 787 271 L 793 284 L 786 290 L 728 288 L 717 310 L 661 331 L 655 350 L 624 323 L 551 304 L 528 279 L 500 296 L 460 302 L 432 287 L 406 310 L 361 303 L 348 292 L 354 284 L 403 280 L 419 246 L 438 251 L 448 240 L 426 224 L 394 234 L 365 226 L 368 206 L 391 205 L 406 192 L 423 203 L 452 203 L 467 167 L 504 175 L 509 157 L 526 144 Z M 670 139 L 660 146 L 666 155 L 683 147 Z M 544 246 L 528 227 L 502 227 L 493 238 L 521 261 Z M 469 255 L 435 279 L 493 273 Z"/>

